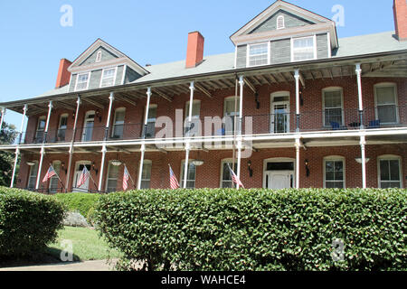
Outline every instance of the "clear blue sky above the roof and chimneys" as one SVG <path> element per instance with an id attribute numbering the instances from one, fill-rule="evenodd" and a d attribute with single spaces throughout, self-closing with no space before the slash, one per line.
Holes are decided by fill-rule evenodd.
<path id="1" fill-rule="evenodd" d="M 229 39 L 273 0 L 43 0 L 0 1 L 0 102 L 53 89 L 59 61 L 74 61 L 101 38 L 141 65 L 185 59 L 187 33 L 205 37 L 204 54 L 234 51 Z M 290 0 L 327 18 L 345 8 L 339 37 L 393 31 L 393 0 Z M 73 25 L 62 27 L 62 5 Z M 21 115 L 7 113 L 17 127 Z"/>

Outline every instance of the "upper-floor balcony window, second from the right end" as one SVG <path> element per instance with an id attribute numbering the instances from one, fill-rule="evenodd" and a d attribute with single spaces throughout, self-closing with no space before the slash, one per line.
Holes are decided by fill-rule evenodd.
<path id="1" fill-rule="evenodd" d="M 344 126 L 342 89 L 323 91 L 324 126 Z"/>

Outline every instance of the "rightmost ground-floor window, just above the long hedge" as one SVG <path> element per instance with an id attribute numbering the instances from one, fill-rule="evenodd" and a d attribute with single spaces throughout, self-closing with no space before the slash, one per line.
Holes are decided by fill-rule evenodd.
<path id="1" fill-rule="evenodd" d="M 378 158 L 379 186 L 382 189 L 402 188 L 402 165 L 398 156 Z"/>

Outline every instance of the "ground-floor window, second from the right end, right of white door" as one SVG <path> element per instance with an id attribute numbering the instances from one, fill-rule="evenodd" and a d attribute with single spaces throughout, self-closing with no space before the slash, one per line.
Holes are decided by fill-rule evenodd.
<path id="1" fill-rule="evenodd" d="M 325 188 L 345 189 L 345 159 L 327 157 L 324 159 Z"/>

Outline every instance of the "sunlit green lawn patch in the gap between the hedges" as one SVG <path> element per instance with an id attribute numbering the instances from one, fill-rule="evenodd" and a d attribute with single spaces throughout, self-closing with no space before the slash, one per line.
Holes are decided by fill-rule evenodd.
<path id="1" fill-rule="evenodd" d="M 58 239 L 48 247 L 48 253 L 60 258 L 63 240 L 71 240 L 74 261 L 103 260 L 120 256 L 106 242 L 99 238 L 96 230 L 91 228 L 65 227 L 59 232 Z"/>

